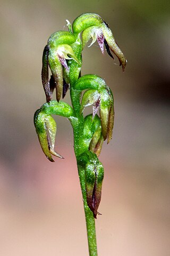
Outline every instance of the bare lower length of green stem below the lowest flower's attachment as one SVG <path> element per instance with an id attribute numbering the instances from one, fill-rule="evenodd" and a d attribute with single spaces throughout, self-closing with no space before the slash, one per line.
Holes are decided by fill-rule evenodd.
<path id="1" fill-rule="evenodd" d="M 89 209 L 87 205 L 84 168 L 78 165 L 78 171 L 79 171 L 80 186 L 81 186 L 81 191 L 83 196 L 84 213 L 86 217 L 89 255 L 97 256 L 95 219 L 92 211 Z"/>

